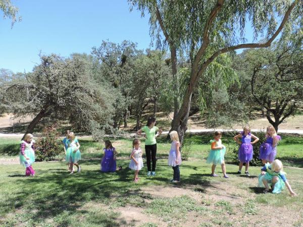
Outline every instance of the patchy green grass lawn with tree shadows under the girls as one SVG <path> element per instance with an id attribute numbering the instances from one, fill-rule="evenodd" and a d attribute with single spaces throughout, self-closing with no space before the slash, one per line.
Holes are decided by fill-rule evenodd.
<path id="1" fill-rule="evenodd" d="M 35 162 L 36 176 L 24 177 L 20 164 L 0 165 L 0 226 L 301 226 L 303 224 L 302 168 L 285 167 L 298 197 L 289 192 L 262 194 L 257 188 L 260 166 L 251 166 L 251 177 L 236 175 L 237 165 L 227 164 L 230 179 L 210 177 L 205 163 L 208 139 L 193 136 L 189 161 L 180 166 L 181 183 L 172 185 L 167 166 L 170 143 L 158 142 L 157 175 L 146 177 L 146 166 L 137 184 L 127 168 L 131 139 L 113 141 L 119 151 L 114 174 L 100 173 L 103 144 L 80 140 L 82 172 L 69 175 L 63 161 Z M 225 144 L 232 146 L 232 142 Z M 285 137 L 278 158 L 302 167 L 302 138 Z M 142 146 L 144 143 L 142 141 Z M 0 139 L 0 158 L 15 158 L 16 139 Z M 227 154 L 227 157 L 229 155 Z M 286 162 L 286 159 L 289 159 Z M 284 159 L 283 159 L 284 158 Z M 1 160 L 1 159 L 0 159 Z M 145 165 L 145 163 L 144 163 Z M 290 209 L 291 206 L 291 209 Z M 271 215 L 274 212 L 275 215 Z M 279 216 L 283 219 L 277 219 Z M 265 220 L 264 220 L 265 219 Z"/>

